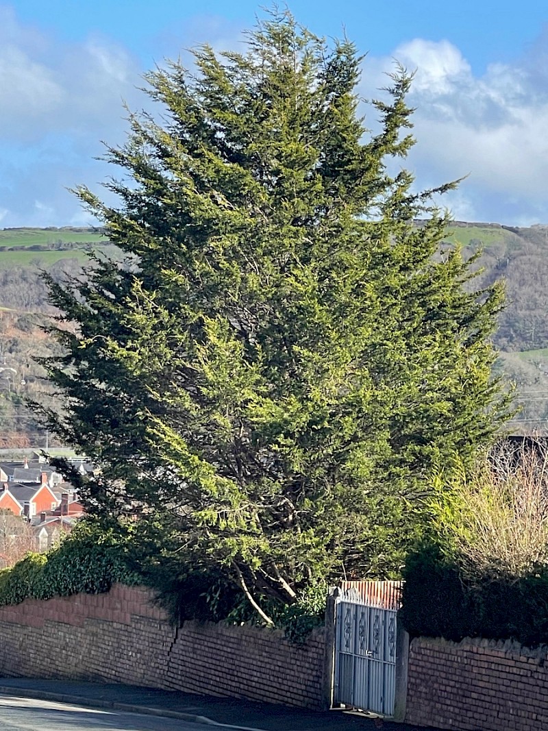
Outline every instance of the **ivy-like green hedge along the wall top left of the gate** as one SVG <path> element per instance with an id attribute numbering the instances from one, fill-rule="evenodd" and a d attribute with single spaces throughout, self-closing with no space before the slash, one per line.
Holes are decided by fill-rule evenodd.
<path id="1" fill-rule="evenodd" d="M 1 570 L 0 606 L 80 592 L 102 594 L 113 583 L 150 586 L 156 604 L 167 611 L 174 624 L 186 619 L 237 624 L 256 620 L 240 588 L 220 569 L 189 569 L 172 559 L 144 556 L 130 535 L 122 537 L 91 520 L 78 523 L 72 534 L 48 553 L 29 553 L 11 569 Z M 305 606 L 268 607 L 277 626 L 285 629 L 293 643 L 305 642 L 323 621 L 324 599 L 307 599 Z"/>

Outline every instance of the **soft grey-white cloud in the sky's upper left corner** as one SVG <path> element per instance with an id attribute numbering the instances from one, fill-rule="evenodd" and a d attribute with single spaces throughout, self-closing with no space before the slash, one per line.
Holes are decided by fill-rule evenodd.
<path id="1" fill-rule="evenodd" d="M 139 84 L 137 61 L 107 39 L 58 42 L 29 33 L 0 7 L 0 140 L 36 143 L 66 130 L 97 140 L 112 126 L 118 132 L 121 99 L 135 99 Z"/>

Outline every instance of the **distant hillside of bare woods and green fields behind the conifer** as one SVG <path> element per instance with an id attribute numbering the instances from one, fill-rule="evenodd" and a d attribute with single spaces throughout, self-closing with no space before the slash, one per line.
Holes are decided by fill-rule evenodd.
<path id="1" fill-rule="evenodd" d="M 56 235 L 56 232 L 48 230 L 39 232 L 39 240 L 46 242 Z M 20 235 L 25 246 L 34 240 L 34 230 L 6 234 L 14 237 Z M 462 243 L 465 257 L 477 251 L 482 252 L 477 265 L 483 267 L 484 271 L 477 280 L 473 280 L 473 287 L 488 286 L 495 279 L 503 277 L 506 307 L 498 316 L 499 327 L 493 334 L 493 343 L 500 351 L 495 368 L 516 383 L 517 405 L 522 406 L 517 416 L 519 421 L 512 420 L 509 428 L 527 433 L 531 429 L 544 429 L 548 423 L 548 321 L 544 317 L 548 308 L 548 295 L 544 287 L 548 276 L 546 229 L 530 227 L 509 230 L 493 224 L 488 227 L 481 224 L 452 224 L 447 229 L 446 239 L 452 243 Z M 15 239 L 13 243 L 23 246 L 22 243 L 16 244 Z M 2 245 L 5 245 L 5 240 Z M 83 244 L 78 243 L 77 246 Z M 115 251 L 114 246 L 104 249 L 101 245 L 99 248 L 105 253 Z M 113 253 L 109 255 L 113 256 Z M 21 265 L 14 265 L 14 257 L 23 257 Z M 58 261 L 50 262 L 50 257 L 58 258 Z M 0 357 L 5 357 L 6 365 L 14 368 L 20 379 L 26 381 L 24 386 L 18 388 L 17 395 L 5 389 L 2 400 L 0 393 L 0 404 L 4 406 L 0 409 L 2 447 L 45 447 L 45 429 L 33 418 L 33 410 L 25 409 L 22 399 L 18 398 L 23 395 L 36 398 L 38 387 L 45 388 L 45 382 L 39 380 L 42 369 L 29 354 L 45 355 L 47 352 L 56 352 L 57 348 L 53 338 L 39 330 L 39 324 L 47 314 L 53 313 L 47 301 L 47 289 L 39 279 L 39 269 L 47 270 L 56 281 L 60 281 L 66 273 L 77 276 L 84 257 L 84 249 L 73 252 L 51 251 L 47 254 L 36 254 L 27 249 L 25 254 L 23 251 L 1 251 L 0 246 Z M 3 311 L 3 308 L 7 308 L 7 311 Z M 62 397 L 57 399 L 57 403 L 59 410 L 64 409 Z M 48 436 L 51 445 L 53 434 Z"/>

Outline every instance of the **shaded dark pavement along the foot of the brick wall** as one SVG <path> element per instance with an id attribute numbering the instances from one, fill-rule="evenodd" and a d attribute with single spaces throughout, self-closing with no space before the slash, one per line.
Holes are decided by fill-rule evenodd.
<path id="1" fill-rule="evenodd" d="M 37 678 L 0 678 L 0 694 L 113 708 L 248 731 L 423 731 L 425 727 L 383 721 L 351 711 L 303 711 L 271 703 L 223 698 L 115 683 Z M 443 731 L 428 727 L 428 731 Z"/>

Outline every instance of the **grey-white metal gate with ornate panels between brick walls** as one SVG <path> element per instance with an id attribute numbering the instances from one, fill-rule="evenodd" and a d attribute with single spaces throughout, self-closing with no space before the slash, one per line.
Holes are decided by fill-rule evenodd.
<path id="1" fill-rule="evenodd" d="M 400 583 L 350 584 L 339 590 L 335 605 L 333 700 L 393 716 Z"/>

